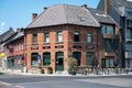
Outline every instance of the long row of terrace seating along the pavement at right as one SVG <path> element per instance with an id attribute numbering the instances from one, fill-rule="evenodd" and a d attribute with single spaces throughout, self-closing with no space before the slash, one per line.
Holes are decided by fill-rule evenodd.
<path id="1" fill-rule="evenodd" d="M 113 74 L 129 74 L 132 73 L 132 68 L 97 68 L 87 66 L 74 67 L 76 74 L 82 75 L 113 75 Z"/>

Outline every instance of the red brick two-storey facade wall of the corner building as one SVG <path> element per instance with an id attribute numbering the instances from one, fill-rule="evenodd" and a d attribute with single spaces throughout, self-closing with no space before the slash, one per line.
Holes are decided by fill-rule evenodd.
<path id="1" fill-rule="evenodd" d="M 63 43 L 56 43 L 57 31 L 63 31 Z M 74 42 L 74 32 L 80 33 L 80 42 Z M 44 44 L 44 32 L 50 32 L 50 44 Z M 32 34 L 37 33 L 37 44 L 32 45 Z M 87 34 L 92 33 L 92 44 L 87 43 Z M 55 48 L 55 46 L 62 45 L 63 48 Z M 74 45 L 79 45 L 81 48 L 74 48 Z M 31 47 L 38 47 L 38 50 L 31 50 Z M 43 48 L 43 46 L 51 46 L 51 48 Z M 43 56 L 44 52 L 51 53 L 51 65 L 53 70 L 56 70 L 55 66 L 55 53 L 64 52 L 64 70 L 67 70 L 68 56 L 73 52 L 81 53 L 81 65 L 86 65 L 86 53 L 94 52 L 101 66 L 101 58 L 105 58 L 105 42 L 100 28 L 79 26 L 79 25 L 59 25 L 38 29 L 25 30 L 25 53 L 26 53 L 26 66 L 28 69 L 36 69 L 31 67 L 31 53 L 38 53 Z"/>

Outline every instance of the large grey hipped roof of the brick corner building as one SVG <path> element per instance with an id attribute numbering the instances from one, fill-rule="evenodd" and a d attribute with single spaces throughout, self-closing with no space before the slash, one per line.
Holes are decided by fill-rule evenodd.
<path id="1" fill-rule="evenodd" d="M 29 28 L 51 26 L 58 24 L 77 24 L 86 26 L 100 26 L 88 10 L 78 6 L 56 4 L 40 14 Z"/>

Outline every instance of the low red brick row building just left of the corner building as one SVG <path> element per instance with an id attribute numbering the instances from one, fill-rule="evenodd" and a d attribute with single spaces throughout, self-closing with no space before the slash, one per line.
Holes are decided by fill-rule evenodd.
<path id="1" fill-rule="evenodd" d="M 24 30 L 18 29 L 3 45 L 8 69 L 21 69 L 24 59 Z"/>

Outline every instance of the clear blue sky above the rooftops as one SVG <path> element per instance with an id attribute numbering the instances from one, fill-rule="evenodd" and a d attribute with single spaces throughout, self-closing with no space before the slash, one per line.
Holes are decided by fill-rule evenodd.
<path id="1" fill-rule="evenodd" d="M 97 8 L 99 0 L 0 0 L 0 34 L 9 28 L 26 28 L 32 21 L 32 13 L 40 14 L 44 7 L 52 4 L 87 4 Z"/>

